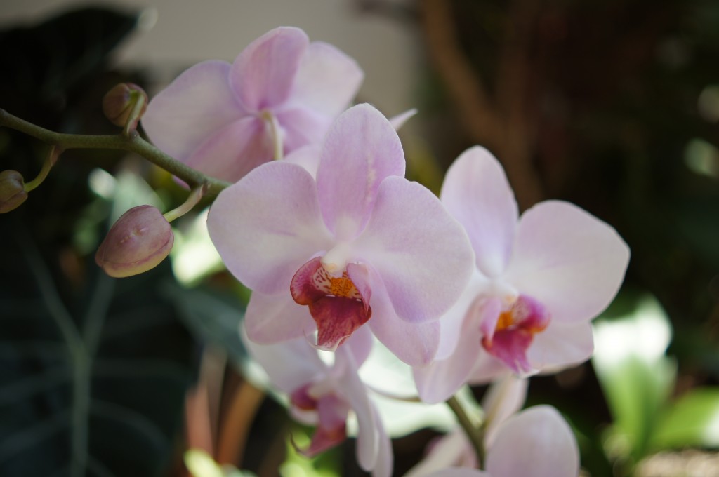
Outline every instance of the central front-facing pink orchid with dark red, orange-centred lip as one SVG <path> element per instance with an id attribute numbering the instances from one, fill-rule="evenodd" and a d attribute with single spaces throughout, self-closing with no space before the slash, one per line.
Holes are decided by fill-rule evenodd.
<path id="1" fill-rule="evenodd" d="M 462 226 L 404 172 L 393 126 L 361 104 L 329 129 L 316 180 L 275 161 L 219 194 L 208 229 L 253 291 L 249 339 L 317 330 L 317 346 L 334 350 L 367 323 L 401 360 L 429 362 L 437 318 L 464 290 L 474 255 Z"/>

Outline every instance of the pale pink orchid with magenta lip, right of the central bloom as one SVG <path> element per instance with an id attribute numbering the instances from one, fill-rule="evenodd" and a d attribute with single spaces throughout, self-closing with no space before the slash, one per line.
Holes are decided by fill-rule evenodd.
<path id="1" fill-rule="evenodd" d="M 530 375 L 586 361 L 590 320 L 613 300 L 629 249 L 613 228 L 570 203 L 547 200 L 518 218 L 499 162 L 473 147 L 449 168 L 442 203 L 475 249 L 475 272 L 441 322 L 429 366 L 414 369 L 427 402 L 468 380 Z"/>

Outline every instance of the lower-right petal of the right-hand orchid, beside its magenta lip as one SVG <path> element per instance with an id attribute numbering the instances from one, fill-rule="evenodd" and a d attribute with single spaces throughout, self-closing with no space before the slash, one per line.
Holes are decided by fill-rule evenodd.
<path id="1" fill-rule="evenodd" d="M 536 369 L 558 371 L 587 361 L 594 351 L 590 323 L 551 323 L 534 335 L 527 358 Z"/>

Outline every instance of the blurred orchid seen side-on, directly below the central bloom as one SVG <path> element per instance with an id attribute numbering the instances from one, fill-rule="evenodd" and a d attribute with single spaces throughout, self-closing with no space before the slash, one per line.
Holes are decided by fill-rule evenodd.
<path id="1" fill-rule="evenodd" d="M 354 333 L 334 353 L 331 365 L 304 338 L 275 345 L 246 343 L 270 381 L 290 395 L 292 415 L 304 424 L 316 425 L 309 447 L 299 452 L 313 457 L 342 443 L 351 411 L 357 417 L 357 463 L 375 477 L 392 474 L 392 443 L 357 374 L 372 346 L 368 330 Z"/>

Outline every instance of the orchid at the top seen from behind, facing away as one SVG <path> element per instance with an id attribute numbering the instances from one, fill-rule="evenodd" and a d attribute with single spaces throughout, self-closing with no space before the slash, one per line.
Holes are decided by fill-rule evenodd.
<path id="1" fill-rule="evenodd" d="M 162 151 L 236 182 L 263 162 L 319 142 L 362 78 L 335 47 L 280 27 L 232 65 L 209 60 L 186 70 L 152 98 L 142 126 Z"/>

